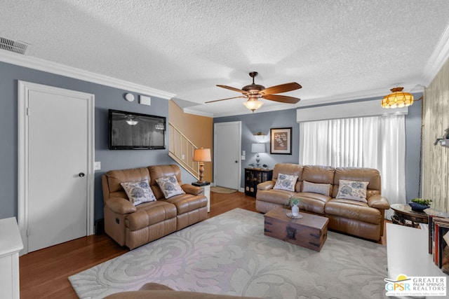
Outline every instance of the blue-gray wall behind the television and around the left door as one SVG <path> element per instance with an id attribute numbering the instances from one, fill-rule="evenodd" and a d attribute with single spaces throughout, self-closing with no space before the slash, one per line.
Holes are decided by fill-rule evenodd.
<path id="1" fill-rule="evenodd" d="M 168 149 L 109 151 L 107 148 L 108 109 L 166 116 L 168 120 L 168 100 L 152 97 L 151 106 L 140 105 L 138 104 L 138 95 L 135 93 L 136 99 L 134 102 L 127 102 L 123 99 L 123 95 L 128 92 L 126 90 L 0 62 L 0 218 L 17 216 L 18 213 L 18 80 L 95 95 L 95 161 L 100 161 L 102 167 L 100 171 L 95 172 L 95 219 L 100 219 L 103 215 L 101 188 L 101 175 L 103 173 L 110 169 L 175 163 L 168 157 Z M 166 143 L 168 148 L 168 141 Z M 51 146 L 52 144 L 58 144 L 58 140 L 49 140 L 48 145 Z M 184 171 L 182 172 L 182 180 L 185 183 L 194 181 L 193 177 Z"/>

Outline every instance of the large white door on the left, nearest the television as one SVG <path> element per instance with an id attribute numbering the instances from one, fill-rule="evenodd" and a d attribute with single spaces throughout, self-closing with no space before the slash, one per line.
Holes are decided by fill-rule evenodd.
<path id="1" fill-rule="evenodd" d="M 19 226 L 30 252 L 91 234 L 93 95 L 39 86 L 25 93 L 27 169 Z"/>

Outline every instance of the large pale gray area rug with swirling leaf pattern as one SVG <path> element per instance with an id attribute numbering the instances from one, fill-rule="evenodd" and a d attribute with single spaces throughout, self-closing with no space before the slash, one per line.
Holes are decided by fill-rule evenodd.
<path id="1" fill-rule="evenodd" d="M 261 298 L 387 298 L 386 247 L 328 232 L 321 252 L 264 235 L 264 217 L 234 209 L 69 277 L 80 298 L 138 290 Z"/>

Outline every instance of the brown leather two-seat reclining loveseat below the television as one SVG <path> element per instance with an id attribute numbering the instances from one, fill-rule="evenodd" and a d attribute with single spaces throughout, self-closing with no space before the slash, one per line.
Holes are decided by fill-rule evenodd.
<path id="1" fill-rule="evenodd" d="M 156 179 L 176 176 L 185 194 L 165 199 Z M 147 179 L 156 201 L 134 206 L 121 186 L 124 182 Z M 152 242 L 176 230 L 207 218 L 207 197 L 203 188 L 182 184 L 177 165 L 154 165 L 134 169 L 111 170 L 102 175 L 105 232 L 129 249 Z"/>

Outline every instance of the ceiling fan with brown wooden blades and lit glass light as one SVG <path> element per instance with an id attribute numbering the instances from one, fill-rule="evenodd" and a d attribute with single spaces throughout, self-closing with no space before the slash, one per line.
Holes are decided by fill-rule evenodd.
<path id="1" fill-rule="evenodd" d="M 297 97 L 287 97 L 286 95 L 274 95 L 275 93 L 288 92 L 292 90 L 297 90 L 302 88 L 302 86 L 296 82 L 285 83 L 281 85 L 272 86 L 271 88 L 265 88 L 262 85 L 257 85 L 254 83 L 254 78 L 257 76 L 257 71 L 251 71 L 250 77 L 253 78 L 253 84 L 243 86 L 241 90 L 239 88 L 233 88 L 227 85 L 217 85 L 219 88 L 226 88 L 228 90 L 234 90 L 236 92 L 241 92 L 243 95 L 239 97 L 244 97 L 248 99 L 248 101 L 244 102 L 243 105 L 251 111 L 255 111 L 259 109 L 263 102 L 259 101 L 262 99 L 269 99 L 270 101 L 288 103 L 288 104 L 296 104 L 300 102 L 300 99 Z M 236 99 L 238 97 L 228 97 L 226 99 Z M 226 99 L 215 99 L 214 101 L 208 101 L 206 103 L 220 102 L 225 101 Z"/>

